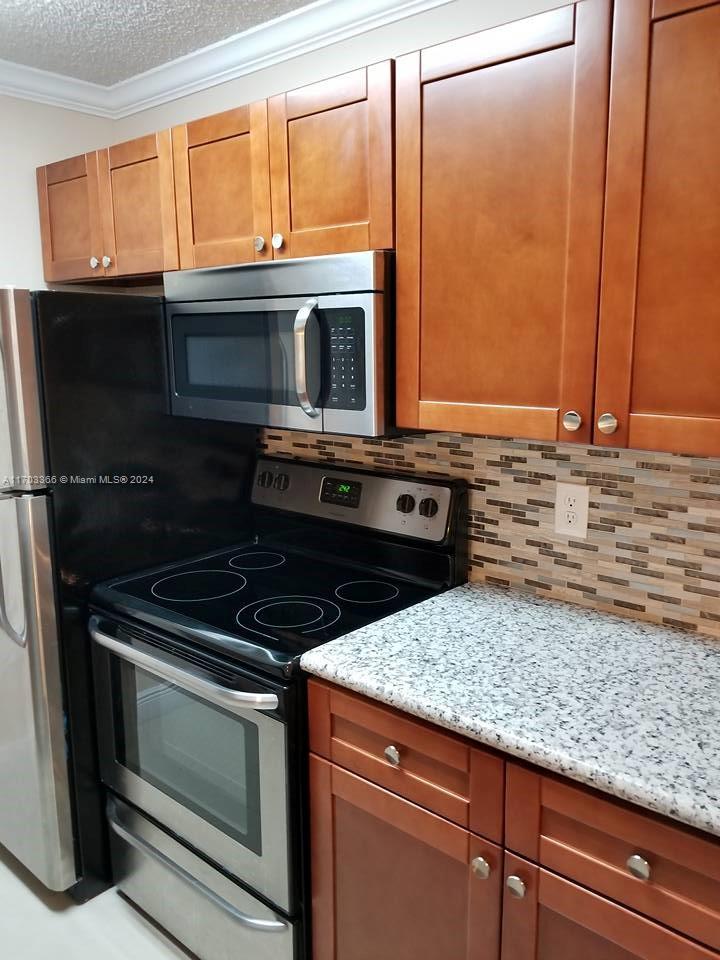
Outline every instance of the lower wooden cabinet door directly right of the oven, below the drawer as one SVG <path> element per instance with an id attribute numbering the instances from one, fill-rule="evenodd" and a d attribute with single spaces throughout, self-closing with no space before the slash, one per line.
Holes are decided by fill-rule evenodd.
<path id="1" fill-rule="evenodd" d="M 313 960 L 497 960 L 499 847 L 316 756 L 310 803 Z"/>

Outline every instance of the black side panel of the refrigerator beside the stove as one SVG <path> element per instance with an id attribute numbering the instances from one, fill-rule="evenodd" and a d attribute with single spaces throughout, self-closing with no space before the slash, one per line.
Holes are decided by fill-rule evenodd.
<path id="1" fill-rule="evenodd" d="M 162 300 L 42 292 L 34 309 L 85 899 L 109 880 L 90 588 L 244 539 L 256 433 L 169 415 Z"/>

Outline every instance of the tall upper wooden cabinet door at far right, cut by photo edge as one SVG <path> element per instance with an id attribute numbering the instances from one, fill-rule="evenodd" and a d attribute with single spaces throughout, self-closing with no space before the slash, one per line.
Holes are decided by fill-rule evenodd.
<path id="1" fill-rule="evenodd" d="M 720 3 L 617 0 L 600 444 L 720 455 L 719 72 Z"/>

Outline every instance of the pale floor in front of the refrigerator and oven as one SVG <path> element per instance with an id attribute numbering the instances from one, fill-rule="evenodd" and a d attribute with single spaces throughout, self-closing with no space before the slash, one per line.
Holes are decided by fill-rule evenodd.
<path id="1" fill-rule="evenodd" d="M 0 847 L 2 960 L 191 960 L 114 890 L 78 906 Z"/>

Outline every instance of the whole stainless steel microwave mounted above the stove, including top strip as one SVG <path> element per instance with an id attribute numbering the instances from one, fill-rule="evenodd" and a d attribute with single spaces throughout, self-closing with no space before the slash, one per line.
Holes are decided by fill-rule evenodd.
<path id="1" fill-rule="evenodd" d="M 172 413 L 383 435 L 391 268 L 368 251 L 166 273 Z"/>

